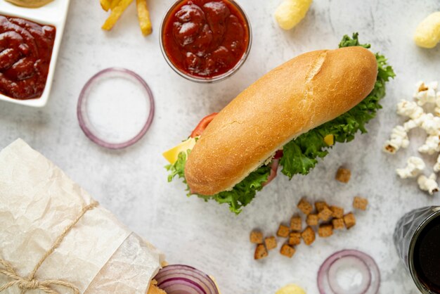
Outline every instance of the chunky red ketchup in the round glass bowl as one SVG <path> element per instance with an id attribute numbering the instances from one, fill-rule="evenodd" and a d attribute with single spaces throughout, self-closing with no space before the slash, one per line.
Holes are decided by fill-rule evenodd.
<path id="1" fill-rule="evenodd" d="M 249 47 L 249 22 L 233 1 L 180 1 L 162 24 L 162 49 L 169 62 L 195 79 L 228 75 L 244 62 Z"/>

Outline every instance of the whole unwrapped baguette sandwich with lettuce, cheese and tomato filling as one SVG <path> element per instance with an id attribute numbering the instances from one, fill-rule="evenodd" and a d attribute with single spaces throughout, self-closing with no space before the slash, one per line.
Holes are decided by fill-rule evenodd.
<path id="1" fill-rule="evenodd" d="M 189 195 L 242 211 L 278 169 L 308 174 L 335 142 L 365 133 L 382 108 L 392 67 L 358 34 L 339 49 L 311 51 L 271 70 L 190 137 L 163 155 L 168 180 L 183 178 Z"/>

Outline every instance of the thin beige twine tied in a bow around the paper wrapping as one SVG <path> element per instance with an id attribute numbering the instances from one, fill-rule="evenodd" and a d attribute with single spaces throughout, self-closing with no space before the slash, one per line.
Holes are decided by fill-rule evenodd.
<path id="1" fill-rule="evenodd" d="M 53 243 L 51 248 L 47 250 L 47 252 L 41 257 L 39 262 L 35 265 L 34 269 L 31 271 L 29 276 L 22 277 L 20 276 L 17 271 L 13 268 L 12 264 L 0 257 L 0 274 L 6 276 L 8 279 L 11 279 L 12 281 L 4 284 L 3 286 L 0 286 L 0 292 L 11 288 L 13 286 L 18 286 L 18 288 L 21 290 L 21 294 L 27 293 L 28 290 L 43 290 L 46 294 L 60 294 L 56 290 L 53 290 L 53 286 L 62 286 L 64 288 L 69 288 L 73 291 L 75 294 L 80 294 L 79 289 L 73 285 L 72 283 L 61 281 L 61 280 L 44 280 L 39 281 L 35 279 L 35 274 L 37 274 L 38 269 L 41 267 L 41 264 L 43 264 L 47 257 L 49 257 L 53 251 L 56 250 L 60 246 L 60 244 L 63 242 L 65 236 L 69 234 L 70 231 L 72 231 L 73 227 L 77 225 L 80 219 L 84 217 L 86 212 L 89 210 L 93 210 L 93 208 L 97 207 L 99 205 L 98 202 L 93 201 L 89 205 L 86 205 L 82 208 L 81 212 L 77 216 L 76 219 L 74 219 L 56 238 L 56 241 Z"/>

